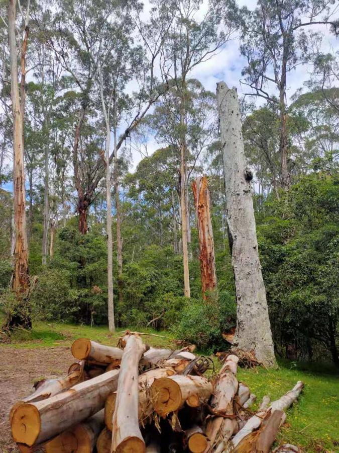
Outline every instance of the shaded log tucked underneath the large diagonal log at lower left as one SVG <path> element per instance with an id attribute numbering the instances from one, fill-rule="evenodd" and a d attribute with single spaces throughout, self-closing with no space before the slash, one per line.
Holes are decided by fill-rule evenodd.
<path id="1" fill-rule="evenodd" d="M 103 410 L 46 442 L 46 453 L 91 453 L 103 427 Z"/>

